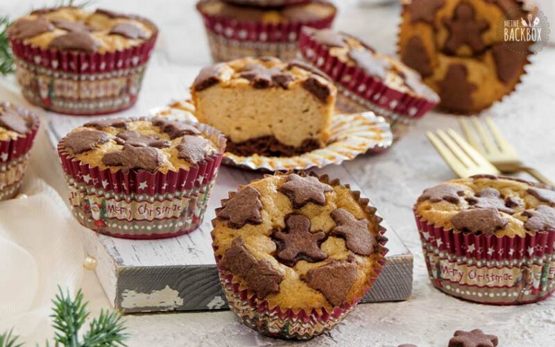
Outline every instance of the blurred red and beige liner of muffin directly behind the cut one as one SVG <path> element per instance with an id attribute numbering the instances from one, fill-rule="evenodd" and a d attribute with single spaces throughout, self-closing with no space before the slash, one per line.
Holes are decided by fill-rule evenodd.
<path id="1" fill-rule="evenodd" d="M 330 28 L 336 15 L 334 12 L 321 19 L 279 24 L 239 21 L 203 12 L 201 5 L 206 1 L 210 0 L 200 1 L 196 8 L 203 17 L 212 58 L 216 61 L 244 56 L 276 56 L 283 60 L 295 58 L 302 26 Z"/>

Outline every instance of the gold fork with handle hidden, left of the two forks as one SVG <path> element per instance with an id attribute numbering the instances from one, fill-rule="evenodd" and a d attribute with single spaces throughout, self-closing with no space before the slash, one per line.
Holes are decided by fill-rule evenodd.
<path id="1" fill-rule="evenodd" d="M 437 135 L 436 135 L 437 134 Z M 461 178 L 477 174 L 499 175 L 499 170 L 478 153 L 453 129 L 428 131 L 426 136 L 432 142 L 443 160 Z"/>

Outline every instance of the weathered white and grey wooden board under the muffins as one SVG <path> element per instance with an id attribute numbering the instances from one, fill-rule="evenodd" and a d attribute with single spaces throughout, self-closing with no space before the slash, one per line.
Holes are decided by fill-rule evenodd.
<path id="1" fill-rule="evenodd" d="M 87 117 L 53 116 L 49 136 L 53 144 Z M 344 166 L 316 170 L 361 190 Z M 205 219 L 189 235 L 161 240 L 117 239 L 85 232 L 85 251 L 96 259 L 96 275 L 110 303 L 125 313 L 227 309 L 212 252 L 214 209 L 237 185 L 262 177 L 242 169 L 222 167 Z M 363 192 L 363 195 L 364 194 Z M 377 206 L 379 210 L 379 206 Z M 386 221 L 387 264 L 363 302 L 402 301 L 412 290 L 413 257 Z"/>

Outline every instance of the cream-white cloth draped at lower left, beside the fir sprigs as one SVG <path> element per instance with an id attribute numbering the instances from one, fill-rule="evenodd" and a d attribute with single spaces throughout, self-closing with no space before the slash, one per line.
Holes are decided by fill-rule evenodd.
<path id="1" fill-rule="evenodd" d="M 43 180 L 29 178 L 21 193 L 0 202 L 0 333 L 43 345 L 58 285 L 73 295 L 83 280 L 83 227 Z"/>

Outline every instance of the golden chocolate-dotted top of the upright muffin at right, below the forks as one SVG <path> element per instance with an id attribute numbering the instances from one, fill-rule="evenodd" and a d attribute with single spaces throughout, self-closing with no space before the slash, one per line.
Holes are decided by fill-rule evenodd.
<path id="1" fill-rule="evenodd" d="M 428 223 L 461 232 L 524 237 L 555 230 L 555 189 L 477 175 L 425 189 L 415 206 Z"/>

